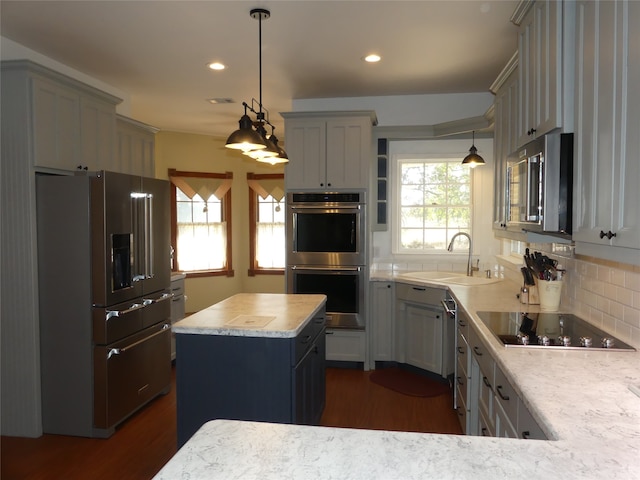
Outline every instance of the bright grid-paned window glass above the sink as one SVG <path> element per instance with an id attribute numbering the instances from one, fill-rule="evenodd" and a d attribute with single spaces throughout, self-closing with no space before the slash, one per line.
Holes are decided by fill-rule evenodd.
<path id="1" fill-rule="evenodd" d="M 455 158 L 397 158 L 397 253 L 443 253 L 457 232 L 471 234 L 471 172 Z"/>

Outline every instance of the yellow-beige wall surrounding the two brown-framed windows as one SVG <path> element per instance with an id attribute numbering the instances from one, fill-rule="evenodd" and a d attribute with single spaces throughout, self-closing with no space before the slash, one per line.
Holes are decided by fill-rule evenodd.
<path id="1" fill-rule="evenodd" d="M 187 278 L 186 311 L 197 312 L 240 292 L 283 293 L 284 276 L 249 277 L 249 187 L 247 172 L 283 173 L 282 166 L 261 164 L 224 147 L 225 139 L 177 132 L 156 135 L 156 176 L 168 178 L 168 169 L 196 172 L 233 172 L 233 277 Z"/>

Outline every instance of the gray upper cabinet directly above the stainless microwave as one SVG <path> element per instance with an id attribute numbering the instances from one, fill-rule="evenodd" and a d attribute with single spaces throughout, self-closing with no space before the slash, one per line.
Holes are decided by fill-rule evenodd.
<path id="1" fill-rule="evenodd" d="M 562 127 L 572 131 L 571 85 L 573 2 L 523 1 L 512 17 L 518 29 L 518 145 Z M 569 32 L 570 33 L 570 32 Z"/>

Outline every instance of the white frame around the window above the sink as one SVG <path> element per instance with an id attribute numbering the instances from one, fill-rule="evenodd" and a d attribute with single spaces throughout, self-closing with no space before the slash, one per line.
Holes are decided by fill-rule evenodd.
<path id="1" fill-rule="evenodd" d="M 407 257 L 416 257 L 416 256 L 437 256 L 437 255 L 446 255 L 448 254 L 446 248 L 438 249 L 438 250 L 408 250 L 401 248 L 401 215 L 400 210 L 402 208 L 400 192 L 401 188 L 401 175 L 400 169 L 402 163 L 407 163 L 409 161 L 413 161 L 415 163 L 444 163 L 451 162 L 454 163 L 460 160 L 460 154 L 452 153 L 452 152 L 442 152 L 442 153 L 431 153 L 431 152 L 422 152 L 422 153 L 396 153 L 392 155 L 392 171 L 393 171 L 393 196 L 394 196 L 394 211 L 393 211 L 393 223 L 392 223 L 392 239 L 391 239 L 391 251 L 393 255 L 406 255 Z M 440 161 L 438 161 L 440 160 Z M 474 169 L 469 169 L 469 209 L 470 209 L 470 223 L 468 228 L 468 233 L 473 235 L 474 230 L 474 207 L 473 207 L 473 192 L 474 192 L 474 181 L 473 181 L 473 171 Z M 448 185 L 448 184 L 447 184 Z M 460 231 L 467 231 L 466 229 Z M 447 242 L 449 238 L 447 237 Z"/>

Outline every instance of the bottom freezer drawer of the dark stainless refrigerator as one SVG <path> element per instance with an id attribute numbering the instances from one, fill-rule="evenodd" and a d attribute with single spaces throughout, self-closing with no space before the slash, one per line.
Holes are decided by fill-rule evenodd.
<path id="1" fill-rule="evenodd" d="M 94 428 L 110 429 L 171 386 L 171 325 L 94 347 Z"/>

